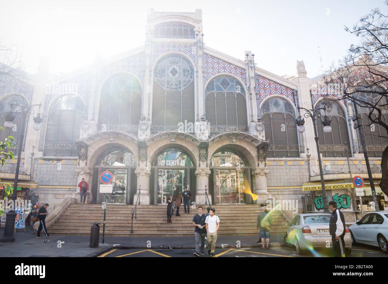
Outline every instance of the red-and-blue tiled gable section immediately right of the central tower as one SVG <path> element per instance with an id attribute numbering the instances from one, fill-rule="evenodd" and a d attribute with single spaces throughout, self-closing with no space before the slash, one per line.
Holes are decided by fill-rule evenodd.
<path id="1" fill-rule="evenodd" d="M 229 73 L 241 79 L 246 85 L 246 75 L 245 68 L 241 68 L 240 66 L 236 66 L 229 62 L 223 61 L 217 57 L 214 57 L 210 54 L 204 54 L 204 73 L 205 73 L 205 82 L 207 82 L 211 77 L 222 74 Z"/>

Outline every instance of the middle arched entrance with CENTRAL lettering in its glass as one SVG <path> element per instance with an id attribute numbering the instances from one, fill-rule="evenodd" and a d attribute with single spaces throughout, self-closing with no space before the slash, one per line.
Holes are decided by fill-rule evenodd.
<path id="1" fill-rule="evenodd" d="M 187 186 L 195 199 L 196 177 L 192 157 L 178 147 L 159 152 L 151 163 L 151 204 L 166 204 L 170 194 L 174 197 Z"/>

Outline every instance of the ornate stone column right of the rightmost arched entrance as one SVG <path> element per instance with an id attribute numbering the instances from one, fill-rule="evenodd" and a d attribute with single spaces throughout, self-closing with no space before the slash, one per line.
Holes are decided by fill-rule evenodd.
<path id="1" fill-rule="evenodd" d="M 271 198 L 271 195 L 267 191 L 267 175 L 269 173 L 269 170 L 267 168 L 268 143 L 265 145 L 259 145 L 256 149 L 258 167 L 252 169 L 252 175 L 255 178 L 255 183 L 253 185 L 253 193 L 257 194 L 258 197 L 255 201 L 253 201 L 253 203 L 260 204 L 265 203 L 268 198 Z"/>

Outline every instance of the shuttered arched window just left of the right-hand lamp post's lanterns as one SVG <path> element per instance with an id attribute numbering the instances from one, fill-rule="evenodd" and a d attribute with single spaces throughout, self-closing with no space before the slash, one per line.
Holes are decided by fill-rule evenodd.
<path id="1" fill-rule="evenodd" d="M 291 104 L 281 97 L 270 97 L 261 108 L 265 139 L 270 142 L 267 157 L 299 157 L 298 132 Z"/>

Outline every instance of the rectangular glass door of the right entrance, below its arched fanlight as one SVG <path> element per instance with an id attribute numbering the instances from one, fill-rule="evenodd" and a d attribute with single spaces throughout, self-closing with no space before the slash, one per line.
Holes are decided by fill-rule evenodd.
<path id="1" fill-rule="evenodd" d="M 247 178 L 244 170 L 215 170 L 217 204 L 245 203 L 244 190 Z"/>

